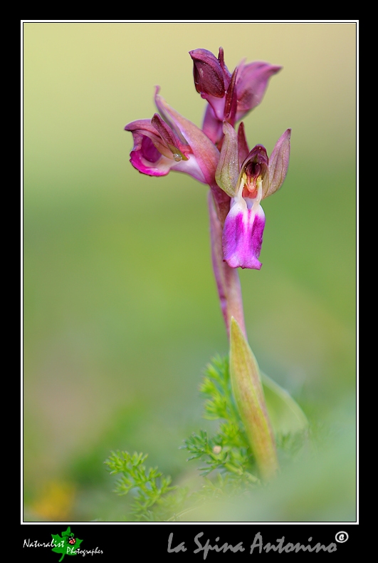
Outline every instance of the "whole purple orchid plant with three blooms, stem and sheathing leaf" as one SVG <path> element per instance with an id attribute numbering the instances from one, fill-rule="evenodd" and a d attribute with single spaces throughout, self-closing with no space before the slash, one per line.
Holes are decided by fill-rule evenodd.
<path id="1" fill-rule="evenodd" d="M 196 90 L 208 102 L 199 129 L 155 92 L 159 113 L 133 121 L 130 162 L 142 174 L 187 172 L 209 185 L 211 258 L 230 343 L 233 393 L 264 480 L 278 470 L 275 440 L 266 410 L 256 358 L 248 346 L 237 268 L 260 269 L 265 215 L 261 200 L 283 184 L 288 170 L 290 130 L 268 158 L 263 145 L 248 149 L 243 123 L 236 122 L 261 102 L 268 80 L 280 66 L 241 63 L 231 74 L 223 49 L 190 52 Z"/>

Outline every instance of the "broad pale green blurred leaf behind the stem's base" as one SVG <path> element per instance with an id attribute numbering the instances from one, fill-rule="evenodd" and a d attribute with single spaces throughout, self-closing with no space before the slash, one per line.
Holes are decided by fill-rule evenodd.
<path id="1" fill-rule="evenodd" d="M 275 434 L 297 433 L 308 427 L 308 420 L 290 393 L 260 371 L 269 418 Z"/>

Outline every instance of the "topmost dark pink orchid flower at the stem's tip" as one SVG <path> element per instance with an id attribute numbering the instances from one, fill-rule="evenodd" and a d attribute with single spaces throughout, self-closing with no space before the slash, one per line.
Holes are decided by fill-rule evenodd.
<path id="1" fill-rule="evenodd" d="M 235 125 L 256 108 L 263 99 L 269 78 L 282 67 L 261 61 L 248 64 L 242 61 L 231 75 L 224 63 L 223 48 L 219 48 L 218 58 L 207 49 L 194 49 L 189 54 L 194 63 L 196 91 L 209 102 L 202 129 L 218 146 L 223 138 L 224 120 Z"/>

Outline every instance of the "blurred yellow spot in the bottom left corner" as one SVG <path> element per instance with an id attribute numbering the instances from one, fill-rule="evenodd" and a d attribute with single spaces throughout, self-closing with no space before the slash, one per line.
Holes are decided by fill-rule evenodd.
<path id="1" fill-rule="evenodd" d="M 31 509 L 43 520 L 59 522 L 68 520 L 75 498 L 73 485 L 60 481 L 51 481 L 43 487 L 41 495 L 33 502 Z"/>

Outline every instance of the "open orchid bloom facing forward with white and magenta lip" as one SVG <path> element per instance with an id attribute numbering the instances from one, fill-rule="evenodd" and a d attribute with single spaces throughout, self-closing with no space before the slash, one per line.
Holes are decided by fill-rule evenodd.
<path id="1" fill-rule="evenodd" d="M 240 165 L 241 156 L 246 152 L 243 128 L 239 128 L 236 135 L 231 125 L 224 123 L 225 139 L 216 181 L 232 198 L 222 236 L 224 260 L 231 268 L 261 268 L 258 257 L 263 244 L 265 215 L 260 202 L 276 192 L 285 180 L 290 133 L 288 129 L 281 135 L 270 158 L 263 145 L 256 145 Z"/>

